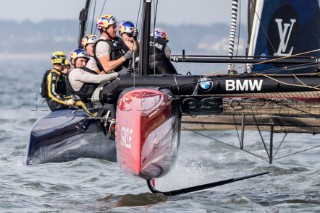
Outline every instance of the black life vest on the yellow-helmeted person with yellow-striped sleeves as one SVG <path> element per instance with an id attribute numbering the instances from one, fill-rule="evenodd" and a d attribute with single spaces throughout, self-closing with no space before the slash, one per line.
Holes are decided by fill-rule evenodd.
<path id="1" fill-rule="evenodd" d="M 59 94 L 60 96 L 63 96 L 63 95 L 66 95 L 66 80 L 64 77 L 62 77 L 62 73 L 57 70 L 57 69 L 51 69 L 51 70 L 47 70 L 44 75 L 43 75 L 43 78 L 42 78 L 42 82 L 41 82 L 41 86 L 40 86 L 40 95 L 43 97 L 43 98 L 48 98 L 48 80 L 47 80 L 47 77 L 49 75 L 49 73 L 52 71 L 52 70 L 56 70 L 58 72 L 55 72 L 57 73 L 59 79 L 57 81 L 57 88 L 56 88 L 56 92 L 57 94 Z"/>

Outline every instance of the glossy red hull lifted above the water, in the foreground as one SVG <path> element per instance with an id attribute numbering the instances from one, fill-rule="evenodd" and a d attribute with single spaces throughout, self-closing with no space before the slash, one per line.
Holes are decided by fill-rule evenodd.
<path id="1" fill-rule="evenodd" d="M 116 146 L 121 168 L 145 179 L 174 165 L 180 116 L 168 94 L 156 89 L 126 90 L 117 106 Z"/>

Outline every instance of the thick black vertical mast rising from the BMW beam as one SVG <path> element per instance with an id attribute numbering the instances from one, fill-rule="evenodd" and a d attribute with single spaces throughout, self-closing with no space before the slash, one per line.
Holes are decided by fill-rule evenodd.
<path id="1" fill-rule="evenodd" d="M 150 23 L 151 23 L 152 0 L 144 0 L 142 12 L 142 33 L 140 42 L 139 74 L 149 73 L 149 46 L 150 46 Z"/>

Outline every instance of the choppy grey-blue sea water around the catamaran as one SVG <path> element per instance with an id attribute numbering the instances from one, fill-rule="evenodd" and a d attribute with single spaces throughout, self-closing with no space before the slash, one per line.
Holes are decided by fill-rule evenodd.
<path id="1" fill-rule="evenodd" d="M 320 212 L 320 149 L 279 158 L 320 145 L 317 135 L 289 135 L 270 165 L 214 140 L 238 146 L 235 132 L 182 132 L 175 167 L 156 180 L 161 190 L 270 173 L 174 197 L 150 193 L 145 180 L 104 160 L 27 166 L 30 130 L 48 113 L 38 91 L 50 61 L 0 64 L 0 212 Z M 245 139 L 245 150 L 266 158 L 257 132 Z"/>

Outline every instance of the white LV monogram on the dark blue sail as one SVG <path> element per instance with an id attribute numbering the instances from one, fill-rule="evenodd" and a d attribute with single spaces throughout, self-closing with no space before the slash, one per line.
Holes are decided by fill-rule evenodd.
<path id="1" fill-rule="evenodd" d="M 284 23 L 283 25 L 282 25 L 282 19 L 276 19 L 276 22 L 279 30 L 280 44 L 279 44 L 278 52 L 274 53 L 274 55 L 289 56 L 292 54 L 293 47 L 291 47 L 289 52 L 286 52 L 286 50 L 287 50 L 288 42 L 291 37 L 292 28 L 296 20 L 290 19 L 291 24 Z M 288 32 L 288 29 L 289 29 L 289 32 Z"/>

